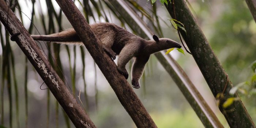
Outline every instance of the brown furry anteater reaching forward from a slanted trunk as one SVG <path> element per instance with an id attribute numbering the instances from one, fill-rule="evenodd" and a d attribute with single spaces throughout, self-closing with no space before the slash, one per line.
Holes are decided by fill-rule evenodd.
<path id="1" fill-rule="evenodd" d="M 90 26 L 109 56 L 115 59 L 116 54 L 119 55 L 117 69 L 126 79 L 128 79 L 128 72 L 125 65 L 132 57 L 135 57 L 132 66 L 132 85 L 135 88 L 140 87 L 139 80 L 150 54 L 169 48 L 181 48 L 177 42 L 168 38 L 158 39 L 156 35 L 153 36 L 154 40 L 147 41 L 113 23 L 95 23 Z M 74 29 L 51 35 L 31 36 L 35 40 L 53 41 L 60 44 L 83 44 Z"/>

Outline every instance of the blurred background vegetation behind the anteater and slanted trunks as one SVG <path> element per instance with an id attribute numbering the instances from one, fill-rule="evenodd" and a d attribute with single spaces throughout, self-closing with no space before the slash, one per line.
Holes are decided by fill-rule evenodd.
<path id="1" fill-rule="evenodd" d="M 33 2 L 35 4 L 32 4 Z M 52 5 L 50 4 L 51 2 Z M 133 6 L 133 9 L 137 11 L 132 2 L 130 1 L 129 5 Z M 150 1 L 140 0 L 137 2 L 150 15 L 153 15 L 151 14 L 153 8 Z M 15 3 L 15 1 L 12 1 L 12 3 Z M 123 20 L 120 21 L 120 17 L 109 9 L 108 4 L 105 4 L 104 1 L 75 0 L 75 4 L 84 12 L 89 23 L 112 22 L 132 32 L 126 23 Z M 253 71 L 250 64 L 256 60 L 254 52 L 256 49 L 256 24 L 245 1 L 188 0 L 187 4 L 193 10 L 193 15 L 233 84 L 237 85 L 245 81 L 251 82 Z M 33 23 L 41 34 L 55 33 L 71 27 L 65 16 L 61 15 L 60 8 L 55 1 L 19 0 L 19 6 L 17 7 L 30 19 L 33 17 Z M 84 10 L 83 7 L 86 7 L 86 9 Z M 56 14 L 54 14 L 53 9 Z M 138 11 L 137 13 L 141 15 L 144 12 Z M 16 14 L 19 16 L 17 9 Z M 159 17 L 163 36 L 179 41 L 176 31 L 168 21 L 168 19 L 171 19 L 170 16 L 159 1 L 157 1 L 157 16 Z M 20 18 L 22 18 L 24 26 L 29 29 L 31 26 L 30 20 L 24 14 Z M 146 18 L 143 19 L 150 26 L 150 22 Z M 31 30 L 33 30 L 32 34 L 38 34 L 35 28 Z M 9 37 L 2 25 L 1 38 L 3 38 L 0 46 L 1 125 L 5 127 L 10 127 L 10 125 L 12 127 L 25 127 L 27 120 L 28 127 L 66 127 L 69 125 L 73 127 L 70 121 L 68 123 L 65 120 L 65 116 L 63 116 L 63 112 L 60 106 L 57 105 L 58 103 L 53 95 L 48 90 L 40 90 L 43 80 L 35 72 L 31 64 L 26 63 L 25 56 L 16 43 L 10 42 L 10 51 L 12 52 L 3 50 L 3 47 L 7 46 Z M 7 40 L 5 41 L 5 39 Z M 54 48 L 53 46 L 50 47 L 52 54 L 56 53 Z M 49 50 L 44 45 L 42 45 L 42 49 L 46 54 L 49 54 Z M 84 54 L 81 49 L 84 50 Z M 60 62 L 58 63 L 61 64 L 59 66 L 62 68 L 65 80 L 67 80 L 75 95 L 79 95 L 79 91 L 81 91 L 80 98 L 86 106 L 87 114 L 89 114 L 95 125 L 99 128 L 135 127 L 135 124 L 123 106 L 121 106 L 87 50 L 84 47 L 62 45 L 59 51 Z M 13 62 L 11 58 L 6 60 L 6 53 L 13 54 Z M 172 51 L 171 54 L 187 72 L 189 78 L 197 86 L 224 127 L 227 127 L 225 118 L 219 112 L 215 99 L 192 56 L 188 53 L 185 53 L 184 56 L 176 50 Z M 84 55 L 85 65 L 82 65 Z M 57 60 L 57 58 L 55 59 Z M 6 64 L 10 64 L 10 67 L 6 66 Z M 11 84 L 8 84 L 8 73 L 5 72 L 7 68 L 10 71 L 14 71 L 14 74 L 11 73 L 9 77 L 11 78 Z M 58 67 L 55 68 L 58 69 Z M 127 65 L 127 68 L 131 68 L 131 63 Z M 83 76 L 83 71 L 85 71 L 85 76 Z M 16 83 L 14 83 L 15 80 Z M 130 78 L 128 81 L 131 81 Z M 140 83 L 142 87 L 135 89 L 135 92 L 159 128 L 203 127 L 191 106 L 161 64 L 158 63 L 155 56 L 150 57 Z M 27 93 L 25 85 L 27 85 Z M 46 86 L 43 84 L 42 89 L 45 88 Z M 255 122 L 256 109 L 255 102 L 253 102 L 255 101 L 255 91 L 253 90 L 255 90 L 255 87 L 243 85 L 238 89 L 238 92 L 252 120 Z M 27 115 L 26 106 L 28 106 Z"/>

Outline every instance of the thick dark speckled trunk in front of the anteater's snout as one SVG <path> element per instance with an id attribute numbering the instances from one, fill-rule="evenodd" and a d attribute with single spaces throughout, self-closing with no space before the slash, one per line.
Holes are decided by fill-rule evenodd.
<path id="1" fill-rule="evenodd" d="M 219 109 L 225 116 L 231 128 L 255 128 L 255 125 L 245 109 L 242 101 L 234 101 L 226 109 L 222 107 L 223 102 L 229 97 L 238 97 L 237 93 L 230 96 L 229 90 L 233 87 L 226 72 L 222 68 L 217 56 L 211 49 L 209 42 L 202 30 L 197 25 L 195 18 L 191 14 L 184 0 L 168 1 L 166 8 L 173 19 L 183 23 L 187 33 L 180 29 L 189 50 L 192 53 L 197 65 L 199 66 L 208 86 L 214 97 L 223 94 L 220 99 Z"/>

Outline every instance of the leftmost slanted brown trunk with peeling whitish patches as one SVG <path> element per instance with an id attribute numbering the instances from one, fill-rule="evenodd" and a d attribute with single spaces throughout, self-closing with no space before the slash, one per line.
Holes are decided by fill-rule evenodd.
<path id="1" fill-rule="evenodd" d="M 37 70 L 74 125 L 79 128 L 95 128 L 85 110 L 79 106 L 74 95 L 70 93 L 67 86 L 51 67 L 44 53 L 34 42 L 19 19 L 8 8 L 4 0 L 0 0 L 0 20 L 11 35 L 21 33 L 15 39 L 16 43 Z"/>

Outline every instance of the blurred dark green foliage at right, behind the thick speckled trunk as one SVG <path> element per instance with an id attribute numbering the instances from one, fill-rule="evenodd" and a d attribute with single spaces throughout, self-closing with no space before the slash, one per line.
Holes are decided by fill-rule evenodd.
<path id="1" fill-rule="evenodd" d="M 210 43 L 236 85 L 252 74 L 249 65 L 256 60 L 256 24 L 245 1 L 225 0 L 222 6 Z"/>

